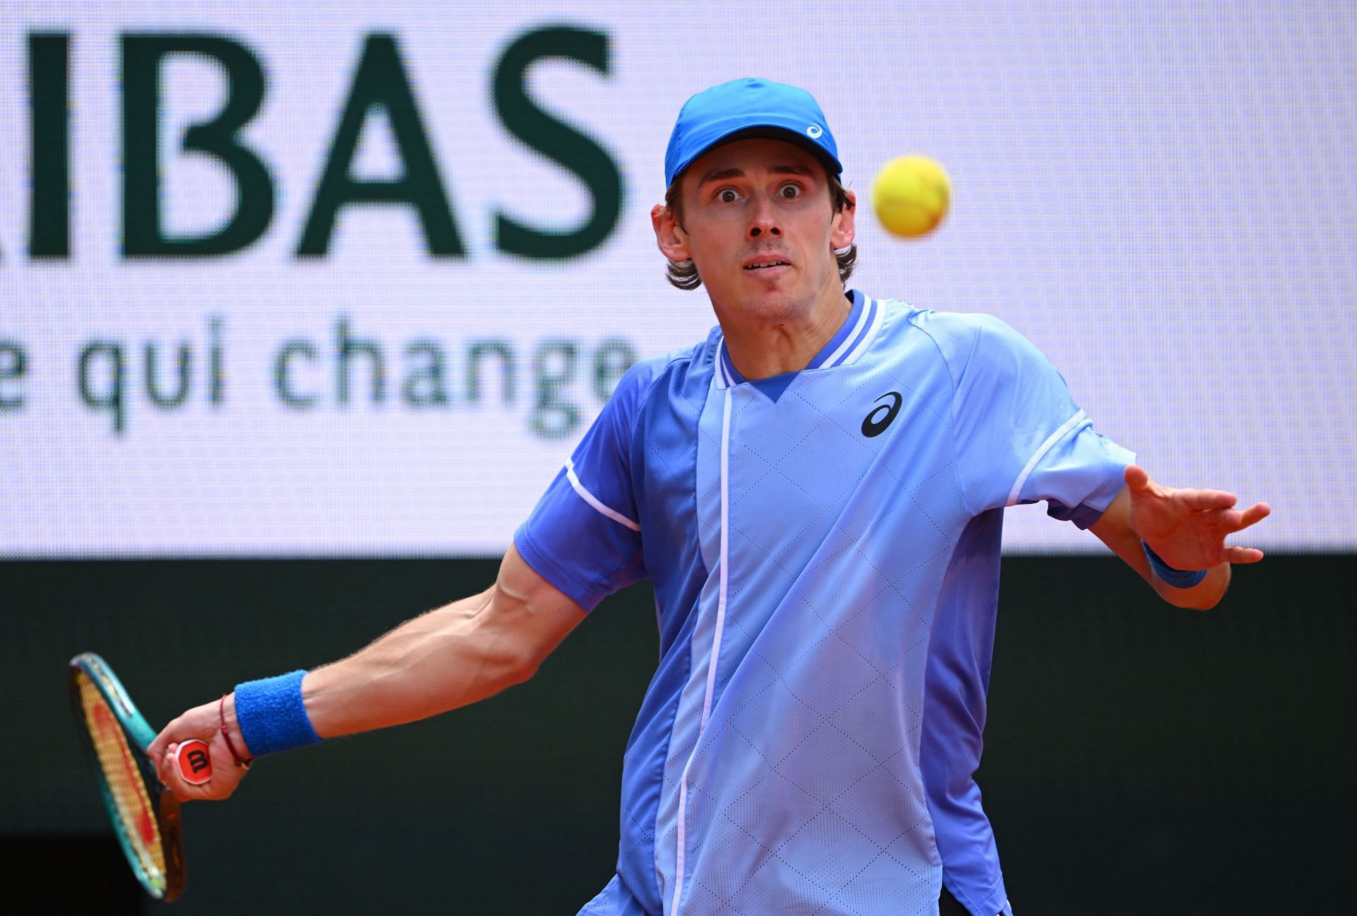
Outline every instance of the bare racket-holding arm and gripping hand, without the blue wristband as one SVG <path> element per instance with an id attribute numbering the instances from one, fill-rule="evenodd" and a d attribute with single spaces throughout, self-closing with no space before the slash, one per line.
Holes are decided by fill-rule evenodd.
<path id="1" fill-rule="evenodd" d="M 493 696 L 536 673 L 585 612 L 509 547 L 495 584 L 414 617 L 343 661 L 307 672 L 301 681 L 311 727 L 322 738 L 383 729 Z M 235 718 L 235 698 L 194 707 L 172 721 L 148 753 L 180 801 L 221 799 L 244 778 L 221 734 L 250 755 Z M 213 778 L 191 786 L 167 755 L 187 738 L 208 742 Z"/>

